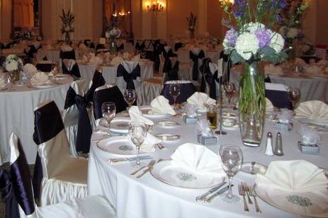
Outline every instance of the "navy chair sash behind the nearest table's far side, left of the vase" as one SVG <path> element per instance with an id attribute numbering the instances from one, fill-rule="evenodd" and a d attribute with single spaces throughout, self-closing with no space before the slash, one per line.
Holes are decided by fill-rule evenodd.
<path id="1" fill-rule="evenodd" d="M 183 103 L 186 102 L 187 99 L 193 95 L 193 93 L 196 92 L 195 86 L 193 86 L 192 83 L 188 84 L 181 84 L 181 93 L 176 98 L 176 103 Z M 169 103 L 172 105 L 174 103 L 174 100 L 170 94 L 170 84 L 164 84 L 163 90 L 161 92 L 161 96 L 164 96 L 165 98 L 169 99 Z"/>

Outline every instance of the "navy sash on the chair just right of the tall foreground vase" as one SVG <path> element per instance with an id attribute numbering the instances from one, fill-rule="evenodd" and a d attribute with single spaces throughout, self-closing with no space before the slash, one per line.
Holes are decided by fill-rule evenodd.
<path id="1" fill-rule="evenodd" d="M 287 91 L 277 91 L 266 89 L 266 98 L 271 101 L 276 108 L 292 109 Z"/>

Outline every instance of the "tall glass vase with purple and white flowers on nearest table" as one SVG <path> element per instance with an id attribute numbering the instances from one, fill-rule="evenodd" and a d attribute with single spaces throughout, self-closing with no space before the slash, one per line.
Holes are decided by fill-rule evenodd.
<path id="1" fill-rule="evenodd" d="M 276 25 L 285 0 L 234 0 L 234 4 L 221 1 L 227 20 L 223 46 L 233 64 L 244 63 L 245 71 L 239 80 L 239 123 L 242 142 L 258 147 L 264 130 L 266 108 L 264 77 L 258 63 L 280 62 L 287 57 L 283 50 L 283 36 L 272 28 Z M 264 24 L 265 23 L 265 24 Z M 233 25 L 234 24 L 234 25 Z"/>

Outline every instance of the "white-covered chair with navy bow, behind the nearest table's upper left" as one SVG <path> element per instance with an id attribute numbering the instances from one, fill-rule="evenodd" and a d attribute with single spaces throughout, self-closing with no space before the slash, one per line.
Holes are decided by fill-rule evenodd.
<path id="1" fill-rule="evenodd" d="M 121 62 L 118 64 L 116 84 L 120 91 L 134 89 L 137 95 L 137 104 L 142 105 L 141 69 L 138 62 Z"/>

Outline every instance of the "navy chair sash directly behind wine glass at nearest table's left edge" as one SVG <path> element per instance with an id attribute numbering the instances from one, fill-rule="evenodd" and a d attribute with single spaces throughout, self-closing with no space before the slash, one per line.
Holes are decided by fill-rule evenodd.
<path id="1" fill-rule="evenodd" d="M 120 113 L 123 110 L 126 110 L 128 104 L 125 103 L 123 94 L 120 92 L 118 86 L 113 86 L 111 88 L 101 89 L 94 93 L 94 118 L 98 120 L 103 117 L 101 112 L 101 105 L 104 102 L 113 102 L 115 103 L 116 113 Z"/>

